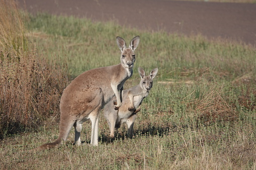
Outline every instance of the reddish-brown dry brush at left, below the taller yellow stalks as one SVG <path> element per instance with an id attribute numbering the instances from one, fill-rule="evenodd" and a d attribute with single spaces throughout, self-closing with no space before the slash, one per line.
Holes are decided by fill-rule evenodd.
<path id="1" fill-rule="evenodd" d="M 66 69 L 37 55 L 35 48 L 20 53 L 19 59 L 14 50 L 2 53 L 0 138 L 58 115 L 59 98 L 68 83 Z"/>

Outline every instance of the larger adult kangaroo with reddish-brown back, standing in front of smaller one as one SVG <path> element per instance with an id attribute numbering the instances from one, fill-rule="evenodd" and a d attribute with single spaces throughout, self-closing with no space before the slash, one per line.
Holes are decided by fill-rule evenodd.
<path id="1" fill-rule="evenodd" d="M 74 143 L 80 145 L 82 123 L 88 119 L 92 122 L 91 144 L 98 145 L 99 112 L 114 95 L 117 97 L 115 110 L 121 106 L 123 85 L 132 76 L 134 50 L 138 47 L 140 38 L 134 37 L 128 48 L 123 38 L 117 37 L 116 41 L 121 50 L 121 63 L 86 71 L 66 87 L 60 99 L 59 136 L 54 142 L 43 144 L 35 150 L 49 149 L 61 144 L 62 140 L 67 139 L 72 126 L 75 128 Z"/>

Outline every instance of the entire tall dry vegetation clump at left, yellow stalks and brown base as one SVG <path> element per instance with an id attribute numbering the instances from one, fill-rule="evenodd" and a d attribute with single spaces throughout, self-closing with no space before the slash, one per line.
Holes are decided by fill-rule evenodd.
<path id="1" fill-rule="evenodd" d="M 67 67 L 29 47 L 14 1 L 0 0 L 0 139 L 56 116 L 68 83 Z"/>

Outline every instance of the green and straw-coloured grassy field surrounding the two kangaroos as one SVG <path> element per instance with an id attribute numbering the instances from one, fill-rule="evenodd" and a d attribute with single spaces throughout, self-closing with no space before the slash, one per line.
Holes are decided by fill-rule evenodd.
<path id="1" fill-rule="evenodd" d="M 38 69 L 47 66 L 46 70 L 49 70 L 52 67 L 47 63 L 52 61 L 55 66 L 67 63 L 72 79 L 92 68 L 119 64 L 120 50 L 116 45 L 116 36 L 123 37 L 129 43 L 139 35 L 141 41 L 135 51 L 134 75 L 127 80 L 124 88 L 139 83 L 138 67 L 144 68 L 147 74 L 155 67 L 159 71 L 138 113 L 132 139 L 126 138 L 126 127 L 122 126 L 115 132 L 115 140 L 111 140 L 107 122 L 101 114 L 98 147 L 87 144 L 91 135 L 91 123 L 88 121 L 83 123 L 83 146 L 72 145 L 74 132 L 71 130 L 67 142 L 61 147 L 28 153 L 25 150 L 53 141 L 58 135 L 59 111 L 55 105 L 59 102 L 61 91 L 57 93 L 56 89 L 61 90 L 65 85 L 61 79 L 67 80 L 68 76 L 66 73 L 51 76 L 51 72 L 58 75 L 54 70 L 46 72 L 51 81 L 43 87 L 48 87 L 46 91 L 54 88 L 55 92 L 47 91 L 47 95 L 40 95 L 40 99 L 46 96 L 49 99 L 54 93 L 51 100 L 43 100 L 52 101 L 54 105 L 40 116 L 41 109 L 34 112 L 32 107 L 37 102 L 28 100 L 31 103 L 28 106 L 32 108 L 30 116 L 36 113 L 40 121 L 26 126 L 22 133 L 4 134 L 0 147 L 1 168 L 255 169 L 254 47 L 225 40 L 208 41 L 200 35 L 183 37 L 164 32 L 141 32 L 115 23 L 92 23 L 74 17 L 38 14 L 28 18 L 25 30 L 30 46 L 36 45 L 32 46 L 36 51 L 35 59 L 38 62 L 41 61 L 39 59 L 49 60 L 44 63 L 45 66 L 39 65 Z M 2 58 L 8 56 L 4 54 Z M 1 69 L 6 68 L 3 63 L 4 59 Z M 24 67 L 32 68 L 30 64 Z M 12 76 L 10 72 L 6 73 Z M 38 83 L 41 85 L 48 81 L 44 81 L 45 72 L 40 73 L 42 77 L 32 75 L 38 78 L 35 82 L 42 81 Z M 53 83 L 54 80 L 58 83 Z M 38 89 L 37 86 L 31 87 L 32 91 Z M 5 88 L 8 89 L 8 86 Z M 36 94 L 46 94 L 40 92 L 36 91 Z M 24 96 L 23 93 L 19 95 Z M 27 99 L 34 98 L 31 96 L 28 95 Z M 19 108 L 17 112 L 28 113 L 26 109 Z M 6 112 L 2 109 L 1 115 L 4 114 Z"/>

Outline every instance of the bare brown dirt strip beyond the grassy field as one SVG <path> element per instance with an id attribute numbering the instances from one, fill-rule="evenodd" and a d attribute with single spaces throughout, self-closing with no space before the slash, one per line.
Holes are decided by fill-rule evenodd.
<path id="1" fill-rule="evenodd" d="M 115 20 L 141 30 L 242 41 L 256 46 L 256 4 L 166 0 L 18 0 L 29 12 Z M 25 6 L 24 6 L 25 2 Z"/>

